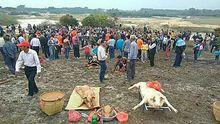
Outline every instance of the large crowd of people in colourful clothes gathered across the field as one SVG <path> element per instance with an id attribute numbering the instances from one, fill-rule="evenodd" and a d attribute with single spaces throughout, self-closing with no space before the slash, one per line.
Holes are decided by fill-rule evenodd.
<path id="1" fill-rule="evenodd" d="M 149 61 L 150 66 L 153 67 L 155 55 L 159 51 L 164 52 L 164 59 L 167 61 L 171 59 L 171 52 L 175 52 L 173 67 L 180 67 L 186 43 L 191 37 L 190 31 L 153 30 L 148 27 L 121 29 L 60 26 L 58 28 L 28 25 L 24 30 L 19 25 L 17 29 L 18 35 L 16 35 L 14 25 L 8 26 L 4 34 L 3 28 L 0 27 L 0 50 L 5 65 L 12 74 L 16 71 L 18 45 L 28 42 L 29 45 L 26 45 L 30 46 L 31 50 L 34 50 L 37 55 L 40 55 L 42 51 L 48 61 L 59 59 L 62 55 L 68 61 L 71 50 L 73 50 L 75 60 L 84 54 L 88 65 L 100 65 L 101 83 L 104 81 L 108 56 L 112 63 L 115 59 L 126 60 L 126 63 L 124 61 L 121 65 L 126 68 L 128 81 L 135 77 L 136 61 L 142 63 Z M 219 51 L 218 37 L 214 33 L 206 33 L 205 37 L 196 33 L 192 39 L 195 44 L 193 48 L 195 61 L 201 56 L 202 51 L 209 49 L 211 52 Z M 84 52 L 80 52 L 80 49 Z M 216 59 L 219 59 L 219 54 L 216 54 Z M 17 63 L 18 61 L 20 61 L 19 58 Z"/>

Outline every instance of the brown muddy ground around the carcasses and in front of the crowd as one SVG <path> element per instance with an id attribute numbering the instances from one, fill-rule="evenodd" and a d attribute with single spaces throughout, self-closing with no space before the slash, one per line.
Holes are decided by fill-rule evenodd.
<path id="1" fill-rule="evenodd" d="M 0 78 L 8 80 L 0 84 L 0 123 L 1 124 L 67 124 L 68 111 L 47 116 L 38 107 L 41 93 L 46 91 L 62 91 L 65 95 L 65 105 L 76 85 L 88 84 L 101 86 L 101 105 L 110 104 L 118 111 L 129 113 L 129 124 L 217 124 L 212 113 L 212 104 L 220 100 L 220 64 L 213 61 L 210 53 L 205 53 L 201 61 L 191 61 L 191 48 L 186 52 L 188 59 L 183 60 L 181 68 L 171 67 L 172 61 L 164 60 L 164 53 L 156 54 L 156 66 L 137 62 L 136 77 L 131 82 L 125 82 L 124 75 L 112 73 L 112 63 L 108 62 L 109 80 L 105 86 L 98 81 L 98 69 L 85 68 L 84 58 L 65 61 L 64 59 L 43 64 L 41 77 L 37 78 L 40 92 L 32 100 L 28 100 L 27 80 L 21 72 L 14 78 L 0 65 Z M 72 55 L 72 53 L 71 53 Z M 1 59 L 2 61 L 2 59 Z M 139 81 L 158 80 L 162 84 L 170 103 L 179 111 L 144 111 L 132 107 L 139 103 L 138 90 L 127 90 L 129 86 Z M 83 111 L 88 113 L 88 111 Z M 88 123 L 85 118 L 79 122 Z M 117 123 L 113 121 L 111 123 Z"/>

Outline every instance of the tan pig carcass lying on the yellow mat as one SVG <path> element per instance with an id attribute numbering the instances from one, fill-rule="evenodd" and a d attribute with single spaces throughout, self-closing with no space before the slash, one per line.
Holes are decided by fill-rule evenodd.
<path id="1" fill-rule="evenodd" d="M 95 103 L 95 92 L 88 85 L 76 87 L 76 92 L 82 98 L 82 102 L 80 105 L 85 103 L 89 108 L 93 108 L 96 106 Z"/>

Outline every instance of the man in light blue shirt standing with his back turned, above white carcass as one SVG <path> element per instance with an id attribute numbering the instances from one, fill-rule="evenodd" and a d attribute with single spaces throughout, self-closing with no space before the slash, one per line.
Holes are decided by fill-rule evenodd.
<path id="1" fill-rule="evenodd" d="M 130 81 L 134 79 L 135 76 L 135 62 L 137 60 L 138 55 L 138 46 L 136 43 L 136 36 L 131 35 L 131 45 L 128 53 L 128 64 L 127 64 L 127 79 Z"/>

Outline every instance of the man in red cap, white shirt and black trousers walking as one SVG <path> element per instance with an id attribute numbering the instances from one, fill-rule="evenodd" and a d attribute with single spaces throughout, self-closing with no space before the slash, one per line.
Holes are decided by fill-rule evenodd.
<path id="1" fill-rule="evenodd" d="M 37 55 L 37 52 L 30 49 L 30 44 L 27 41 L 18 44 L 18 47 L 22 50 L 16 61 L 15 71 L 20 71 L 22 64 L 24 64 L 25 75 L 28 79 L 28 96 L 33 96 L 38 93 L 38 88 L 35 83 L 35 76 L 41 72 L 41 65 Z"/>

